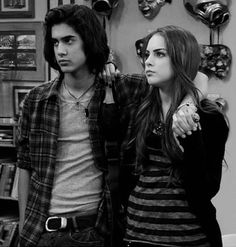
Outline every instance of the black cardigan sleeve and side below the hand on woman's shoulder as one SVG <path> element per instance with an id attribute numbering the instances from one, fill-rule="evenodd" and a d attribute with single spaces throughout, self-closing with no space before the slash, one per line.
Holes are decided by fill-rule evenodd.
<path id="1" fill-rule="evenodd" d="M 199 111 L 202 130 L 181 139 L 184 148 L 183 181 L 187 199 L 212 247 L 222 247 L 216 209 L 211 199 L 220 189 L 222 163 L 229 128 L 224 116 Z"/>

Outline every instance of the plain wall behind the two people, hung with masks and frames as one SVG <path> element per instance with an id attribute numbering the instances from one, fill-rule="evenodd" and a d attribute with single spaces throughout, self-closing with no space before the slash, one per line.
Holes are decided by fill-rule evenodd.
<path id="1" fill-rule="evenodd" d="M 20 21 L 43 20 L 47 8 L 47 0 L 35 0 L 35 2 L 35 19 L 22 19 Z M 222 28 L 220 40 L 230 47 L 234 59 L 236 57 L 236 35 L 234 30 L 234 25 L 236 24 L 236 2 L 229 2 L 232 14 L 231 20 Z M 136 57 L 135 41 L 142 38 L 150 30 L 168 24 L 175 24 L 186 28 L 192 31 L 200 43 L 209 43 L 209 29 L 202 22 L 195 20 L 187 13 L 182 0 L 173 0 L 172 4 L 167 3 L 152 21 L 145 19 L 141 15 L 138 10 L 137 0 L 120 0 L 119 7 L 114 9 L 111 19 L 107 22 L 109 43 L 117 55 L 120 70 L 124 73 L 140 73 L 142 68 Z M 227 80 L 211 79 L 209 82 L 209 93 L 220 94 L 227 100 L 227 115 L 231 125 L 225 157 L 228 169 L 224 168 L 223 170 L 221 190 L 213 200 L 217 208 L 217 216 L 223 233 L 236 232 L 236 166 L 234 165 L 236 162 L 236 152 L 235 148 L 233 148 L 236 147 L 236 112 L 233 111 L 233 105 L 236 105 L 235 81 L 236 68 L 233 61 L 231 75 Z M 18 83 L 0 82 L 0 116 L 11 116 L 12 114 L 12 103 L 9 95 L 11 95 L 13 84 Z"/>

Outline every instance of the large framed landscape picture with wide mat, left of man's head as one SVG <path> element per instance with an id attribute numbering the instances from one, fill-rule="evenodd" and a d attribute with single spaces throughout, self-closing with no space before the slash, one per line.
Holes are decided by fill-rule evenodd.
<path id="1" fill-rule="evenodd" d="M 4 80 L 45 81 L 42 22 L 1 23 L 0 67 Z"/>

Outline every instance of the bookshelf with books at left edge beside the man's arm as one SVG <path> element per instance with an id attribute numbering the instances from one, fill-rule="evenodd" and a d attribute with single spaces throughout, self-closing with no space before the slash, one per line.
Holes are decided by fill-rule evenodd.
<path id="1" fill-rule="evenodd" d="M 16 128 L 12 118 L 0 118 L 0 246 L 18 243 L 19 170 L 16 167 Z"/>

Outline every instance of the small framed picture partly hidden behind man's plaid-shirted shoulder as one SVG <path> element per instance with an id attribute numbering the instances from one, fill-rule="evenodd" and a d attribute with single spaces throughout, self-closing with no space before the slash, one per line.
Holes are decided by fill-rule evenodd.
<path id="1" fill-rule="evenodd" d="M 31 86 L 13 86 L 13 112 L 15 117 L 19 117 L 24 98 L 32 88 Z"/>

